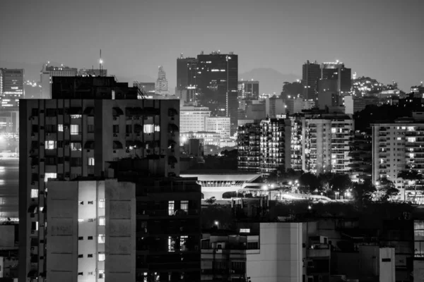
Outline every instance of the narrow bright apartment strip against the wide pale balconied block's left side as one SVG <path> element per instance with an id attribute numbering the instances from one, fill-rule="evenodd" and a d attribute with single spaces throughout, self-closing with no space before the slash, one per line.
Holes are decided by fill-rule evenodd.
<path id="1" fill-rule="evenodd" d="M 295 171 L 302 170 L 302 117 L 299 115 L 290 116 L 291 123 L 291 168 Z"/>

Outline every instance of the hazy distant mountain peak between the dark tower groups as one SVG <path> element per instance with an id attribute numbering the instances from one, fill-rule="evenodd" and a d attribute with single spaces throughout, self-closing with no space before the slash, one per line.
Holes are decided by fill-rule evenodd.
<path id="1" fill-rule="evenodd" d="M 293 82 L 301 79 L 300 75 L 283 74 L 273 68 L 254 68 L 246 73 L 239 73 L 239 80 L 259 80 L 260 93 L 280 94 L 283 82 Z"/>

